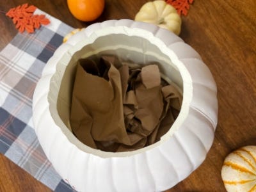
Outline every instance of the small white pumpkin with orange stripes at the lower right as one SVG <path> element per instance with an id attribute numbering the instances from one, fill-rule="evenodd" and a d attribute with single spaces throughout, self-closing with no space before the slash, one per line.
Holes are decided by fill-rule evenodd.
<path id="1" fill-rule="evenodd" d="M 221 177 L 228 192 L 256 191 L 256 146 L 230 153 L 223 163 Z"/>

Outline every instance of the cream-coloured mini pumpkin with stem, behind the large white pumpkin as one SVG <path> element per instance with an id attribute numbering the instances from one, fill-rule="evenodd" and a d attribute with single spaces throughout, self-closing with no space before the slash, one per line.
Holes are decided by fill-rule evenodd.
<path id="1" fill-rule="evenodd" d="M 176 35 L 180 34 L 180 15 L 172 5 L 163 0 L 150 1 L 143 4 L 134 20 L 156 24 L 160 28 L 168 29 Z"/>

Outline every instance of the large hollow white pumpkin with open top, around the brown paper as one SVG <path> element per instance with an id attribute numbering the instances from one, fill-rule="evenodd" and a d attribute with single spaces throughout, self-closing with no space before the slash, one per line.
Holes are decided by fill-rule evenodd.
<path id="1" fill-rule="evenodd" d="M 161 140 L 132 152 L 103 152 L 70 131 L 74 71 L 79 58 L 115 54 L 157 62 L 183 93 L 182 108 Z M 179 36 L 152 24 L 108 20 L 71 36 L 48 61 L 33 97 L 33 122 L 46 156 L 77 191 L 163 191 L 205 159 L 217 125 L 216 84 L 200 56 Z"/>

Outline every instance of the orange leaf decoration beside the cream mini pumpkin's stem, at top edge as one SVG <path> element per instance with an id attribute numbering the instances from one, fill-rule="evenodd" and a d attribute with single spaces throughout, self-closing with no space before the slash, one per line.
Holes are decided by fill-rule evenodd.
<path id="1" fill-rule="evenodd" d="M 189 4 L 192 4 L 194 0 L 166 0 L 166 3 L 172 5 L 179 15 L 188 15 L 190 8 Z"/>

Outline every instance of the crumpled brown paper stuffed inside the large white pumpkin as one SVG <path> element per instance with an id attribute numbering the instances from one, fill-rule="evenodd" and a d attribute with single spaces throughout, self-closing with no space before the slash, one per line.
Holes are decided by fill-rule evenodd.
<path id="1" fill-rule="evenodd" d="M 122 152 L 156 141 L 179 115 L 182 96 L 161 79 L 157 65 L 142 68 L 114 56 L 79 60 L 70 125 L 92 148 Z"/>

